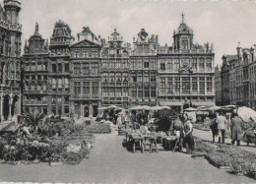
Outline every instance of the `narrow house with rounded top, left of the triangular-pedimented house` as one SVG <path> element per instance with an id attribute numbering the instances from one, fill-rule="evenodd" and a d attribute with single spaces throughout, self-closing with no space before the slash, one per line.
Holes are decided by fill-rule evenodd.
<path id="1" fill-rule="evenodd" d="M 49 112 L 60 116 L 70 115 L 70 44 L 74 40 L 67 24 L 58 21 L 50 38 Z"/>

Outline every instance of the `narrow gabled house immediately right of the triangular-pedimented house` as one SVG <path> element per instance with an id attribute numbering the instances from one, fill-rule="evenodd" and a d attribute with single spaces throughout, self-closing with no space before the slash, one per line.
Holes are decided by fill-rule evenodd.
<path id="1" fill-rule="evenodd" d="M 115 104 L 129 107 L 129 43 L 123 43 L 123 37 L 116 29 L 103 44 L 102 63 L 102 105 Z"/>

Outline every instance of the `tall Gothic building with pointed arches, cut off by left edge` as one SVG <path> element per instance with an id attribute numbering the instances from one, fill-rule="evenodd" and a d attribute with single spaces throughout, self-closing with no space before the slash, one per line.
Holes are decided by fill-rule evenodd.
<path id="1" fill-rule="evenodd" d="M 0 5 L 0 118 L 11 120 L 21 113 L 21 3 L 4 0 Z"/>

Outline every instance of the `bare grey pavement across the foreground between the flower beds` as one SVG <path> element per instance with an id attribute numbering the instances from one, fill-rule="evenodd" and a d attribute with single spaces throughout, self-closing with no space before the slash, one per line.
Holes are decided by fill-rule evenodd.
<path id="1" fill-rule="evenodd" d="M 79 165 L 50 167 L 0 165 L 0 181 L 79 183 L 256 183 L 214 167 L 185 153 L 130 153 L 116 133 L 96 135 L 89 159 Z"/>

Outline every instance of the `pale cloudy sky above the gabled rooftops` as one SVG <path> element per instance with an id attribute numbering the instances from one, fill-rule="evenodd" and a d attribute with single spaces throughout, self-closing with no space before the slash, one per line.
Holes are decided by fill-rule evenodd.
<path id="1" fill-rule="evenodd" d="M 50 38 L 54 24 L 64 21 L 73 36 L 90 27 L 96 35 L 108 38 L 116 28 L 126 42 L 144 28 L 159 34 L 160 44 L 172 44 L 173 30 L 185 23 L 194 31 L 194 42 L 214 43 L 215 64 L 224 54 L 256 44 L 256 1 L 175 1 L 175 0 L 20 0 L 23 45 L 39 24 L 43 38 Z M 0 0 L 3 5 L 3 0 Z"/>

